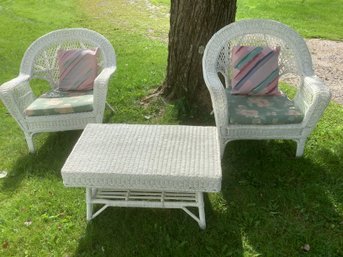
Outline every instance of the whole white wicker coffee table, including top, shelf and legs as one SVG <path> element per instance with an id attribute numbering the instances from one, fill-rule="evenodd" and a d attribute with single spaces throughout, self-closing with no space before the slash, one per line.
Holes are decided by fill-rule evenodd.
<path id="1" fill-rule="evenodd" d="M 203 192 L 221 177 L 217 130 L 200 126 L 89 124 L 62 168 L 65 186 L 86 187 L 87 220 L 109 206 L 181 208 L 203 229 Z"/>

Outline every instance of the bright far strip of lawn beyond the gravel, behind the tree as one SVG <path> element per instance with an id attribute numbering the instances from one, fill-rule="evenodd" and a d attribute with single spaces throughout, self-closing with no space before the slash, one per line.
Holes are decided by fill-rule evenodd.
<path id="1" fill-rule="evenodd" d="M 152 0 L 169 6 L 170 0 Z M 273 19 L 307 38 L 343 40 L 342 0 L 237 0 L 237 20 Z"/>

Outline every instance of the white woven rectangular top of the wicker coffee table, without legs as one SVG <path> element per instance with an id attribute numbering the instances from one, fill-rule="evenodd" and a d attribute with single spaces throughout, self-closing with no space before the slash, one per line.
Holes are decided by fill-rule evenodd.
<path id="1" fill-rule="evenodd" d="M 89 124 L 62 168 L 65 186 L 218 192 L 215 127 Z"/>

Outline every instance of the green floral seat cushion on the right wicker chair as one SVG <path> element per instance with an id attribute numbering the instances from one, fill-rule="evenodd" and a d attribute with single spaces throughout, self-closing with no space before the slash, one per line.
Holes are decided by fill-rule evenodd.
<path id="1" fill-rule="evenodd" d="M 287 96 L 232 95 L 227 91 L 230 124 L 279 125 L 302 122 L 304 115 Z"/>

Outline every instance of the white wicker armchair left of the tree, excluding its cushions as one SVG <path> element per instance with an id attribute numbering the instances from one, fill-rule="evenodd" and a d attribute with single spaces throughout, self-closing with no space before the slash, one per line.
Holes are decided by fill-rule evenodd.
<path id="1" fill-rule="evenodd" d="M 45 116 L 27 116 L 24 110 L 35 99 L 31 79 L 43 79 L 52 88 L 58 85 L 56 53 L 59 48 L 100 50 L 99 72 L 94 81 L 93 111 Z M 95 31 L 84 28 L 61 29 L 34 41 L 26 50 L 18 77 L 0 87 L 0 98 L 25 134 L 30 152 L 34 152 L 32 137 L 39 132 L 83 129 L 88 123 L 101 123 L 106 105 L 110 76 L 116 70 L 116 56 L 111 43 Z"/>

